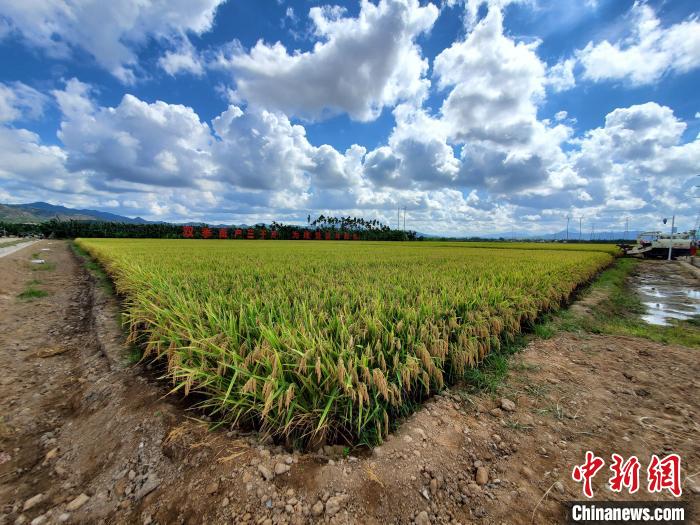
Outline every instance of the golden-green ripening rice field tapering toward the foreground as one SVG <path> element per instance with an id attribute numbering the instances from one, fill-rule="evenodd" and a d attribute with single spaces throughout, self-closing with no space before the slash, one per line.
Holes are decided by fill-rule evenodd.
<path id="1" fill-rule="evenodd" d="M 162 358 L 173 390 L 200 394 L 219 421 L 299 446 L 380 442 L 398 418 L 559 307 L 615 250 L 77 243 L 111 275 L 130 339 L 144 358 Z"/>

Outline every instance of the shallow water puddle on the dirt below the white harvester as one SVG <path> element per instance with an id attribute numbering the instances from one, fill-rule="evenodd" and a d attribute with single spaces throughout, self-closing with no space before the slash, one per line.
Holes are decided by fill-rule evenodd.
<path id="1" fill-rule="evenodd" d="M 660 326 L 672 319 L 700 316 L 700 285 L 679 273 L 675 265 L 654 265 L 633 279 L 646 313 L 641 318 Z"/>

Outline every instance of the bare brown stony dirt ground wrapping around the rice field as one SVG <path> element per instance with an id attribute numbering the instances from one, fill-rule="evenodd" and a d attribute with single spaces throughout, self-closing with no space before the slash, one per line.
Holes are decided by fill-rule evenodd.
<path id="1" fill-rule="evenodd" d="M 53 270 L 28 262 L 43 247 Z M 697 497 L 697 350 L 562 333 L 518 354 L 498 395 L 455 388 L 373 451 L 299 454 L 208 432 L 125 366 L 114 301 L 65 243 L 0 259 L 0 276 L 0 525 L 560 523 L 586 450 L 679 453 Z M 17 299 L 33 279 L 49 295 Z M 607 477 L 599 499 L 655 499 Z"/>

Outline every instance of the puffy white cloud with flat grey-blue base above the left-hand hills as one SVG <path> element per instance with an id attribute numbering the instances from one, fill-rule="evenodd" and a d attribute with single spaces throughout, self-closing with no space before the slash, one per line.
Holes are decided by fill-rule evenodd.
<path id="1" fill-rule="evenodd" d="M 212 172 L 210 128 L 192 108 L 130 94 L 116 107 L 96 107 L 75 79 L 54 95 L 68 166 L 94 173 L 104 186 L 191 186 Z"/>

